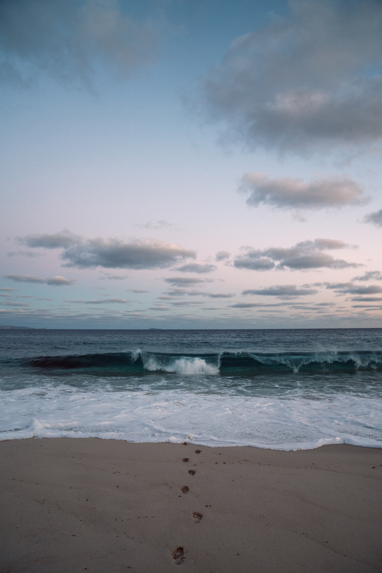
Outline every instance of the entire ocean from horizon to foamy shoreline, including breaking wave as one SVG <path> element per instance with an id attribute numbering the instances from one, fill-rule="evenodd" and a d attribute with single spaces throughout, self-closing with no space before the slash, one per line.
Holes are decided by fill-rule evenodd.
<path id="1" fill-rule="evenodd" d="M 382 448 L 382 329 L 0 330 L 0 439 Z"/>

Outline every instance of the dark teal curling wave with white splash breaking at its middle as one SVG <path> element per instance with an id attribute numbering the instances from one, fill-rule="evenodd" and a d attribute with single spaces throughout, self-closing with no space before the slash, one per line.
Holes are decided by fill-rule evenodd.
<path id="1" fill-rule="evenodd" d="M 36 356 L 28 359 L 3 359 L 7 368 L 26 368 L 46 374 L 93 374 L 137 376 L 151 372 L 192 375 L 283 375 L 325 374 L 382 370 L 382 352 L 282 352 L 221 354 L 161 354 L 155 352 L 114 352 L 64 356 Z"/>

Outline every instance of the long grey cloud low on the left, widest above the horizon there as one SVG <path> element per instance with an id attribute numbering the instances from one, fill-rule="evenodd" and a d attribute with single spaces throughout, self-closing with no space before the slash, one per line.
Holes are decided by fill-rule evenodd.
<path id="1" fill-rule="evenodd" d="M 80 269 L 103 266 L 108 269 L 164 269 L 184 258 L 195 258 L 193 250 L 162 241 L 146 240 L 125 243 L 120 239 L 101 237 L 83 240 L 69 231 L 53 235 L 27 235 L 19 242 L 33 248 L 64 249 L 61 258 L 63 266 Z"/>

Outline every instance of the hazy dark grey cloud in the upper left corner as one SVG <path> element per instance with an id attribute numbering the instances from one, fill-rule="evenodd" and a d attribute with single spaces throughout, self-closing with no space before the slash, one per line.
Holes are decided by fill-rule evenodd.
<path id="1" fill-rule="evenodd" d="M 0 77 L 28 87 L 38 72 L 92 84 L 102 65 L 117 76 L 155 58 L 152 23 L 137 22 L 118 0 L 3 0 Z"/>

